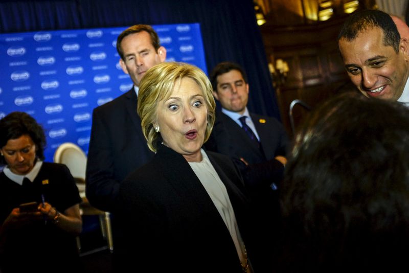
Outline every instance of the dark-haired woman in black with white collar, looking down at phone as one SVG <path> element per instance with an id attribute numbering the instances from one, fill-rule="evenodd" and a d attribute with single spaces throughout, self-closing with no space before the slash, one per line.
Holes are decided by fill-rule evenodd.
<path id="1" fill-rule="evenodd" d="M 46 137 L 25 112 L 0 120 L 2 272 L 78 271 L 81 198 L 69 169 L 43 162 Z"/>

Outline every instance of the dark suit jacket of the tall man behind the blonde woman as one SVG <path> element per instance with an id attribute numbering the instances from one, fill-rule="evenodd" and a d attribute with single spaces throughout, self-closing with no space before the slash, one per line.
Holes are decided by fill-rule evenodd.
<path id="1" fill-rule="evenodd" d="M 86 196 L 103 211 L 112 211 L 121 181 L 152 157 L 137 113 L 132 88 L 93 111 L 86 167 Z"/>

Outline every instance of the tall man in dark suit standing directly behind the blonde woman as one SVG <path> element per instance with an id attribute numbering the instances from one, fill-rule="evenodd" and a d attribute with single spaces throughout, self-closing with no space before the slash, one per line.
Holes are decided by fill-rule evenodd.
<path id="1" fill-rule="evenodd" d="M 86 168 L 86 196 L 103 211 L 113 211 L 121 181 L 153 157 L 137 114 L 138 86 L 150 67 L 166 59 L 166 49 L 147 25 L 123 31 L 117 39 L 117 51 L 122 70 L 134 86 L 94 109 Z"/>

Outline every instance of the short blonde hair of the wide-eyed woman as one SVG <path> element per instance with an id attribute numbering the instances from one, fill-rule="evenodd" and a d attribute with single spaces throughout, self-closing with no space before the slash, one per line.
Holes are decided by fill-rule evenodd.
<path id="1" fill-rule="evenodd" d="M 216 103 L 213 98 L 212 85 L 198 67 L 181 62 L 164 62 L 151 67 L 141 80 L 138 93 L 138 115 L 141 117 L 142 132 L 148 142 L 148 147 L 156 152 L 160 134 L 155 132 L 153 123 L 156 121 L 156 107 L 159 101 L 170 97 L 175 82 L 183 78 L 194 80 L 203 92 L 208 110 L 208 123 L 205 132 L 205 142 L 209 139 L 215 121 Z"/>

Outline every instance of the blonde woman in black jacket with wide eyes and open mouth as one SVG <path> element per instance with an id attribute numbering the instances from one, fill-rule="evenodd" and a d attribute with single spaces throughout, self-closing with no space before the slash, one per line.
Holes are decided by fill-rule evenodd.
<path id="1" fill-rule="evenodd" d="M 117 265 L 143 272 L 253 272 L 248 200 L 228 157 L 201 147 L 215 101 L 200 69 L 153 66 L 138 114 L 153 160 L 130 174 L 118 198 Z"/>

